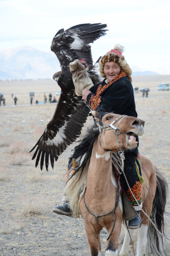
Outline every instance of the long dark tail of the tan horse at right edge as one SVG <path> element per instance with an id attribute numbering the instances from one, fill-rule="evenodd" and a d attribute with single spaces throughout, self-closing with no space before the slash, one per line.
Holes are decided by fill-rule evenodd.
<path id="1" fill-rule="evenodd" d="M 163 248 L 163 238 L 165 238 L 165 230 L 164 230 L 164 213 L 165 213 L 165 204 L 167 198 L 167 189 L 168 185 L 165 178 L 159 173 L 156 168 L 156 193 L 153 201 L 153 207 L 151 212 L 151 219 L 156 225 L 157 229 L 162 233 L 161 234 L 156 230 L 156 228 L 149 223 L 148 227 L 148 253 L 149 251 L 153 251 L 156 253 L 154 255 L 166 255 Z M 147 254 L 147 255 L 150 255 Z"/>

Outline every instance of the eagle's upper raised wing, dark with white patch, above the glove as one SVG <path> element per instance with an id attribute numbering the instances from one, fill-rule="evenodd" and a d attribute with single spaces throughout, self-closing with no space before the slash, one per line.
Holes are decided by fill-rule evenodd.
<path id="1" fill-rule="evenodd" d="M 92 66 L 91 47 L 89 44 L 106 34 L 106 24 L 80 24 L 64 31 L 60 29 L 52 41 L 51 49 L 60 61 L 61 70 L 68 68 L 75 59 L 85 58 Z"/>

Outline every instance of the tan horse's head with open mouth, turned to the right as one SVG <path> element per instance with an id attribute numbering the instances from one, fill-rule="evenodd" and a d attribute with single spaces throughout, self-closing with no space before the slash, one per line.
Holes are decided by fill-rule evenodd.
<path id="1" fill-rule="evenodd" d="M 98 115 L 98 114 L 97 114 Z M 99 115 L 98 118 L 100 119 Z M 119 151 L 137 146 L 134 135 L 142 135 L 144 121 L 132 116 L 103 113 L 97 121 L 101 131 L 100 142 L 105 150 Z"/>

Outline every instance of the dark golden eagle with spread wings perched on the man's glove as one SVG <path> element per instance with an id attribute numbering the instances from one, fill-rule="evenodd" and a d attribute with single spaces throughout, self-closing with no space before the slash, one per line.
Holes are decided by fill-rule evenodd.
<path id="1" fill-rule="evenodd" d="M 56 106 L 53 118 L 45 127 L 42 136 L 32 148 L 36 151 L 32 160 L 36 157 L 35 166 L 40 161 L 42 170 L 44 160 L 48 170 L 50 157 L 52 168 L 54 159 L 65 151 L 66 147 L 76 141 L 80 136 L 81 129 L 87 119 L 89 110 L 85 102 L 75 95 L 75 87 L 72 82 L 72 74 L 69 63 L 75 59 L 86 59 L 88 72 L 94 84 L 100 82 L 98 73 L 95 71 L 89 44 L 106 34 L 106 24 L 80 24 L 64 31 L 60 29 L 54 36 L 51 50 L 60 61 L 61 71 L 53 75 L 60 88 L 61 95 Z"/>

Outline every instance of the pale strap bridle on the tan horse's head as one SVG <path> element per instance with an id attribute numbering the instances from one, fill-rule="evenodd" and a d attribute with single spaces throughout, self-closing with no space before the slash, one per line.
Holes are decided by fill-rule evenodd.
<path id="1" fill-rule="evenodd" d="M 116 135 L 116 142 L 117 142 L 117 146 L 119 148 L 120 151 L 123 151 L 122 148 L 120 148 L 120 145 L 118 143 L 118 135 L 119 134 L 126 134 L 126 133 L 123 133 L 121 131 L 121 129 L 118 127 L 119 123 L 123 120 L 123 118 L 125 118 L 126 115 L 121 115 L 119 117 L 117 117 L 113 122 L 111 122 L 110 124 L 105 124 L 103 123 L 102 121 L 99 121 L 99 122 L 102 122 L 103 125 L 100 125 L 99 122 L 96 122 L 96 124 L 98 125 L 98 127 L 96 128 L 93 128 L 94 131 L 98 131 L 99 130 L 99 136 L 100 136 L 100 145 L 102 146 L 102 142 L 101 142 L 101 135 L 102 135 L 102 131 L 104 130 L 104 134 L 103 134 L 103 140 L 104 140 L 104 146 L 106 147 L 105 145 L 105 131 L 106 130 L 112 130 L 114 132 L 114 134 Z M 119 120 L 119 121 L 118 121 Z M 118 121 L 117 125 L 114 126 L 113 124 L 115 124 L 116 122 Z"/>

